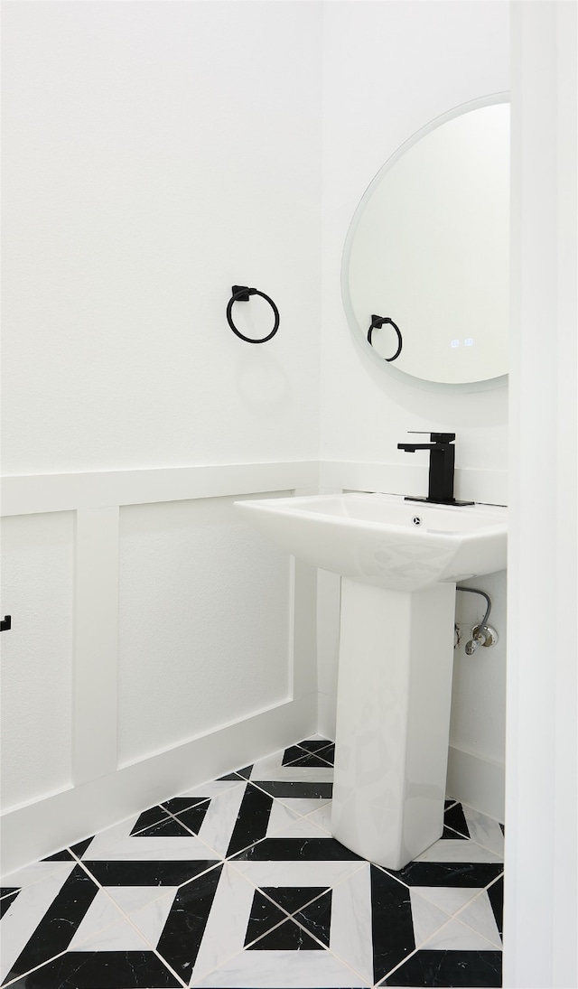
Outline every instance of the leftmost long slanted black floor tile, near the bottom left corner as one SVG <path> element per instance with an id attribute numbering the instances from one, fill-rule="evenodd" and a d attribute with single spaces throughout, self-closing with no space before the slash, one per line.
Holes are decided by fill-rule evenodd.
<path id="1" fill-rule="evenodd" d="M 65 951 L 97 893 L 94 880 L 76 865 L 14 962 L 8 980 L 24 975 Z"/>

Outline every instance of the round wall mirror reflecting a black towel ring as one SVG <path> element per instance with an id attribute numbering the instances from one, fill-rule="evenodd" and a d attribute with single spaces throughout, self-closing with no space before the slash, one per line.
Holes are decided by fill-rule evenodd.
<path id="1" fill-rule="evenodd" d="M 341 289 L 357 342 L 422 388 L 506 383 L 510 106 L 468 103 L 403 144 L 347 233 Z"/>

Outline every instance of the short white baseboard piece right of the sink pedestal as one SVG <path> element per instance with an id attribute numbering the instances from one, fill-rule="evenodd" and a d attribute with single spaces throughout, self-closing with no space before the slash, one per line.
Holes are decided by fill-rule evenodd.
<path id="1" fill-rule="evenodd" d="M 506 767 L 502 763 L 450 746 L 446 792 L 461 803 L 503 822 L 505 773 Z"/>

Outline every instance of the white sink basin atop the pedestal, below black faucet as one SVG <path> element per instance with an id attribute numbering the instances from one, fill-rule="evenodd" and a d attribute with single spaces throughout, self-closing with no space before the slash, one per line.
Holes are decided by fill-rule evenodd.
<path id="1" fill-rule="evenodd" d="M 427 504 L 397 494 L 236 503 L 277 546 L 363 584 L 418 590 L 506 567 L 507 509 L 500 506 Z"/>

